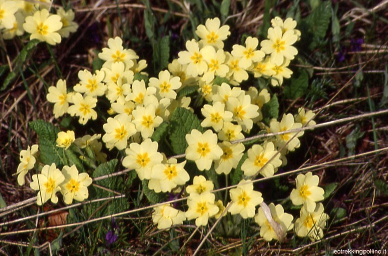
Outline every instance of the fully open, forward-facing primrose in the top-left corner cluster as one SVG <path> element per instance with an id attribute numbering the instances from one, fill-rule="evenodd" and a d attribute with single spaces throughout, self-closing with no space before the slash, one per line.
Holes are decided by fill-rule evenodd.
<path id="1" fill-rule="evenodd" d="M 30 33 L 30 40 L 38 39 L 55 45 L 61 42 L 61 35 L 58 30 L 62 28 L 61 17 L 56 14 L 49 14 L 47 9 L 42 9 L 34 13 L 34 16 L 25 18 L 23 28 Z"/>

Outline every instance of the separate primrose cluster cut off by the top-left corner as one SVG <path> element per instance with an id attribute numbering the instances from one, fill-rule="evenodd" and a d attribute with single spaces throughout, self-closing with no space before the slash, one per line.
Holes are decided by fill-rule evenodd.
<path id="1" fill-rule="evenodd" d="M 51 1 L 36 3 L 24 0 L 0 0 L 0 32 L 4 39 L 30 33 L 30 40 L 38 39 L 55 45 L 63 37 L 69 37 L 78 25 L 74 22 L 72 9 L 59 7 L 56 14 L 49 13 Z"/>

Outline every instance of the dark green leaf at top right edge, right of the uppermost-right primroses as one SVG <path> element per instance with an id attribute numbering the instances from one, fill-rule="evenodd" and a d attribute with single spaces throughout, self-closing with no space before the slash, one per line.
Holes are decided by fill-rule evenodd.
<path id="1" fill-rule="evenodd" d="M 323 1 L 314 11 L 305 19 L 309 26 L 309 31 L 312 32 L 315 37 L 324 38 L 329 28 L 331 18 L 331 2 Z"/>

